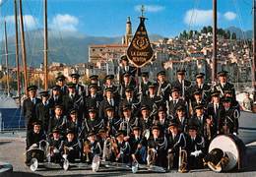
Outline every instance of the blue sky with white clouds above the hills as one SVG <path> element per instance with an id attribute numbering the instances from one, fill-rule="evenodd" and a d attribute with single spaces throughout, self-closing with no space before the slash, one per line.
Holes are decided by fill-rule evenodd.
<path id="1" fill-rule="evenodd" d="M 42 28 L 42 0 L 23 0 L 26 29 Z M 13 32 L 13 0 L 2 2 L 0 15 Z M 212 0 L 48 0 L 49 28 L 96 36 L 117 36 L 125 32 L 127 16 L 133 31 L 144 4 L 149 33 L 175 36 L 183 29 L 212 25 Z M 219 0 L 219 27 L 251 29 L 252 0 Z M 2 25 L 2 18 L 1 25 Z M 0 26 L 2 27 L 2 26 Z M 0 29 L 0 35 L 3 29 Z"/>

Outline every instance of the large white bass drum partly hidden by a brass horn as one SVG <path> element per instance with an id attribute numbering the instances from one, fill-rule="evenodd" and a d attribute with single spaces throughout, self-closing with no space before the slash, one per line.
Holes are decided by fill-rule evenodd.
<path id="1" fill-rule="evenodd" d="M 214 148 L 221 148 L 228 156 L 228 163 L 223 166 L 223 171 L 238 170 L 244 166 L 245 146 L 234 135 L 219 135 L 209 146 L 209 152 Z"/>

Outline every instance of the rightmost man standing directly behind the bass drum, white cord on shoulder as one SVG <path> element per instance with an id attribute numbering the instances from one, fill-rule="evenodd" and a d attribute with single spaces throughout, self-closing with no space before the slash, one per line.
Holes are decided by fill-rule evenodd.
<path id="1" fill-rule="evenodd" d="M 221 133 L 228 135 L 237 135 L 238 133 L 238 118 L 240 116 L 239 111 L 236 107 L 231 106 L 231 97 L 225 97 L 223 100 L 224 104 L 224 117 L 221 117 Z"/>

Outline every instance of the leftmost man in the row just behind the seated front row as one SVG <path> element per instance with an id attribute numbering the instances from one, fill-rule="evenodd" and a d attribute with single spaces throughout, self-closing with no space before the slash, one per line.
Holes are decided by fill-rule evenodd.
<path id="1" fill-rule="evenodd" d="M 63 134 L 66 130 L 67 117 L 63 115 L 62 105 L 55 105 L 54 115 L 50 118 L 48 133 L 51 133 L 54 128 L 58 128 Z"/>

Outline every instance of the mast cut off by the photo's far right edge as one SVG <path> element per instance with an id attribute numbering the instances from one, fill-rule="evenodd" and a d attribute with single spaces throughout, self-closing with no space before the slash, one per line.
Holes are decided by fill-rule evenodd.
<path id="1" fill-rule="evenodd" d="M 253 47 L 253 59 L 252 59 L 252 88 L 253 88 L 253 99 L 256 101 L 256 82 L 255 82 L 255 65 L 256 65 L 256 0 L 253 0 L 253 40 L 252 40 L 252 47 Z"/>

